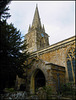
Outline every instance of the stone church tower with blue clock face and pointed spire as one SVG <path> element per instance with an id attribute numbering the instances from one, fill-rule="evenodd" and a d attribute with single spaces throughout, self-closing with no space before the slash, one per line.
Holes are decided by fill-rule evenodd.
<path id="1" fill-rule="evenodd" d="M 44 25 L 41 25 L 38 7 L 36 5 L 32 25 L 29 26 L 28 33 L 25 35 L 28 44 L 28 52 L 35 52 L 49 46 L 48 34 L 45 33 Z"/>

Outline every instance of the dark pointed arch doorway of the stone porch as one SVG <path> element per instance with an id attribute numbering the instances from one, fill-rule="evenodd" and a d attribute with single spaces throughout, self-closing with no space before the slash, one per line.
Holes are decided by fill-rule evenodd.
<path id="1" fill-rule="evenodd" d="M 46 79 L 40 69 L 36 69 L 31 76 L 30 92 L 34 94 L 39 87 L 46 85 Z"/>

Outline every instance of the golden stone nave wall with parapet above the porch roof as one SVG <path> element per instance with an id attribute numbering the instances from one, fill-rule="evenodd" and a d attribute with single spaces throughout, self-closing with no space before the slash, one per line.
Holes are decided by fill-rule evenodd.
<path id="1" fill-rule="evenodd" d="M 66 55 L 69 48 L 75 48 L 75 37 L 54 44 L 46 49 L 31 54 L 31 58 L 38 57 L 43 61 L 64 66 L 66 70 L 66 82 L 68 82 L 68 72 L 66 64 Z"/>

